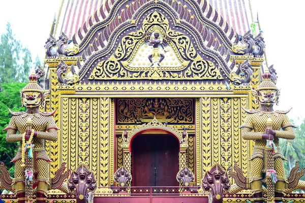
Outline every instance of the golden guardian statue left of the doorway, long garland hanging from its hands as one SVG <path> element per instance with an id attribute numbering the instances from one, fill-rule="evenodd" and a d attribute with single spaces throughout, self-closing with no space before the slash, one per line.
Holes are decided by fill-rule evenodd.
<path id="1" fill-rule="evenodd" d="M 53 112 L 40 112 L 45 105 L 48 91 L 43 90 L 35 74 L 29 77 L 29 83 L 20 91 L 25 112 L 11 112 L 12 119 L 5 128 L 7 142 L 20 142 L 15 162 L 13 188 L 18 202 L 32 202 L 33 188 L 36 187 L 36 202 L 46 202 L 50 187 L 49 162 L 45 150 L 45 140 L 57 141 L 58 127 Z M 19 133 L 17 133 L 19 132 Z"/>

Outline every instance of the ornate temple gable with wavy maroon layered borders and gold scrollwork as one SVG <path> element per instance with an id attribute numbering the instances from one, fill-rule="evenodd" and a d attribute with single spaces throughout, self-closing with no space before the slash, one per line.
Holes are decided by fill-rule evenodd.
<path id="1" fill-rule="evenodd" d="M 242 42 L 248 45 L 240 44 L 237 33 L 206 0 L 122 0 L 114 1 L 107 12 L 107 17 L 95 16 L 95 23 L 84 24 L 73 37 L 80 84 L 100 80 L 230 83 L 230 74 L 240 63 L 234 56 L 246 54 L 248 45 L 258 47 L 261 40 L 246 35 Z M 160 39 L 154 39 L 156 30 Z M 250 55 L 253 46 L 246 50 Z"/>

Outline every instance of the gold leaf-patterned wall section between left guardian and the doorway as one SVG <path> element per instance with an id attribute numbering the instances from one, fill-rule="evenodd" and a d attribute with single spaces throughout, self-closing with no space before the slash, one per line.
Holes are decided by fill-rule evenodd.
<path id="1" fill-rule="evenodd" d="M 114 126 L 109 129 L 114 117 L 109 113 L 114 111 L 110 110 L 110 99 L 60 99 L 60 162 L 67 162 L 72 170 L 84 163 L 95 173 L 98 186 L 108 186 L 114 171 L 114 138 L 109 136 L 114 134 Z"/>

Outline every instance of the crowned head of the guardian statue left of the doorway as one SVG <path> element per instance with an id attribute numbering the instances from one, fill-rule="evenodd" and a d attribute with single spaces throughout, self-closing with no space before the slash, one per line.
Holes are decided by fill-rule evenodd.
<path id="1" fill-rule="evenodd" d="M 45 105 L 45 98 L 49 91 L 45 91 L 38 84 L 38 77 L 32 73 L 28 77 L 29 83 L 20 91 L 21 104 L 25 107 L 39 107 Z"/>

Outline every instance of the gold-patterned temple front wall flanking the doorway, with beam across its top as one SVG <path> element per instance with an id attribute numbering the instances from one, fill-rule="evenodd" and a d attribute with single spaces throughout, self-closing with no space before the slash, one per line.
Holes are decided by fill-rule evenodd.
<path id="1" fill-rule="evenodd" d="M 256 108 L 253 106 L 249 86 L 232 86 L 230 91 L 221 83 L 208 86 L 195 83 L 166 86 L 161 83 L 136 86 L 61 86 L 58 85 L 56 78 L 57 64 L 57 60 L 48 62 L 51 67 L 50 98 L 45 109 L 58 109 L 54 118 L 60 128 L 58 142 L 46 143 L 49 156 L 53 160 L 50 167 L 52 176 L 62 162 L 67 162 L 67 167 L 71 170 L 84 163 L 95 173 L 98 186 L 113 184 L 113 174 L 124 161 L 130 162 L 129 170 L 132 170 L 132 157 L 128 154 L 124 156 L 124 151 L 120 147 L 121 133 L 141 125 L 134 123 L 114 126 L 115 98 L 125 94 L 124 97 L 128 98 L 130 95 L 127 92 L 131 94 L 130 91 L 136 93 L 143 89 L 150 92 L 131 97 L 154 97 L 154 93 L 172 88 L 175 91 L 169 93 L 169 97 L 179 97 L 178 94 L 181 97 L 182 94 L 179 92 L 183 92 L 183 97 L 195 100 L 195 122 L 187 126 L 189 147 L 187 153 L 180 156 L 179 160 L 179 163 L 185 164 L 194 172 L 196 179 L 193 185 L 200 184 L 204 173 L 215 163 L 220 163 L 227 170 L 233 166 L 234 161 L 238 161 L 242 171 L 248 176 L 248 159 L 252 153 L 252 143 L 241 139 L 239 126 L 246 117 L 245 111 L 241 108 Z M 253 86 L 258 83 L 259 68 L 255 68 L 255 73 L 257 74 L 254 74 Z M 107 95 L 101 91 L 105 91 L 106 87 L 107 91 L 118 92 Z M 204 90 L 199 94 L 193 92 L 193 89 Z M 121 128 L 122 126 L 126 129 Z M 181 132 L 185 127 L 183 124 L 173 126 Z"/>

